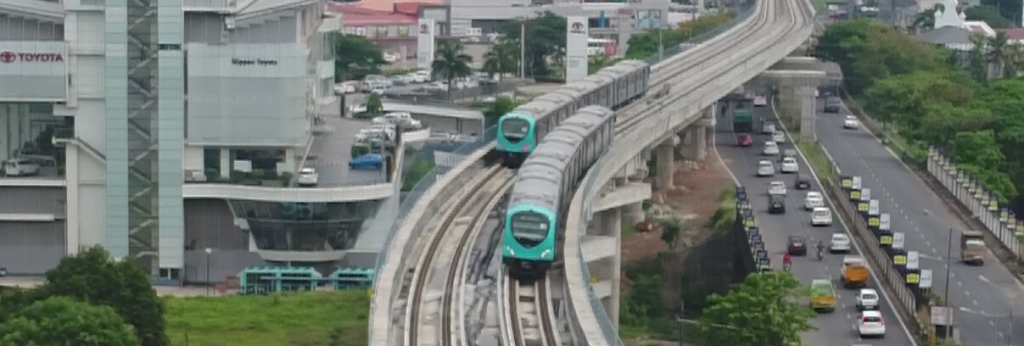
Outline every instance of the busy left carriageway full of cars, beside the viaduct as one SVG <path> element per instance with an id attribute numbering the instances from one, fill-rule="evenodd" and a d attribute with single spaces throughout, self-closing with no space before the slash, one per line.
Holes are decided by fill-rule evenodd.
<path id="1" fill-rule="evenodd" d="M 731 107 L 730 107 L 731 109 Z M 770 119 L 775 121 L 775 116 L 769 107 L 754 109 L 755 124 L 759 119 Z M 778 122 L 776 121 L 776 124 Z M 760 129 L 756 129 L 760 130 Z M 761 150 L 764 142 L 768 140 L 767 135 L 756 134 L 755 145 L 751 147 L 738 147 L 735 145 L 735 136 L 732 132 L 731 114 L 719 118 L 716 129 L 716 147 L 722 156 L 729 170 L 736 176 L 743 186 L 746 186 L 748 196 L 755 209 L 756 220 L 761 228 L 765 247 L 767 248 L 772 265 L 775 270 L 781 270 L 782 254 L 786 246 L 786 239 L 790 234 L 803 234 L 811 241 L 808 249 L 808 257 L 795 257 L 793 261 L 793 272 L 806 286 L 810 286 L 812 279 L 830 278 L 836 283 L 839 293 L 839 304 L 835 312 L 823 313 L 816 316 L 813 326 L 816 331 L 807 332 L 804 335 L 804 343 L 813 346 L 843 346 L 857 343 L 870 344 L 872 346 L 907 346 L 912 345 L 909 333 L 900 326 L 898 318 L 893 313 L 893 308 L 888 300 L 883 300 L 882 312 L 886 320 L 886 338 L 883 340 L 870 340 L 861 342 L 856 332 L 857 318 L 859 316 L 856 309 L 857 290 L 847 290 L 839 283 L 840 268 L 843 264 L 842 254 L 825 255 L 824 260 L 817 261 L 814 255 L 813 245 L 818 241 L 828 244 L 828 240 L 834 232 L 848 233 L 836 215 L 836 222 L 830 227 L 812 227 L 810 213 L 805 211 L 804 198 L 806 190 L 798 190 L 793 186 L 794 174 L 780 174 L 776 172 L 775 177 L 757 177 L 756 168 L 758 161 L 764 157 Z M 780 149 L 794 148 L 792 140 L 779 146 Z M 810 174 L 809 165 L 798 158 L 802 173 Z M 777 159 L 776 159 L 777 160 Z M 786 213 L 784 215 L 768 214 L 768 183 L 774 180 L 781 180 L 788 187 L 786 196 Z M 812 190 L 820 191 L 818 183 L 812 182 Z M 859 255 L 854 249 L 851 255 Z M 871 287 L 879 289 L 871 279 Z M 881 290 L 880 290 L 881 292 Z"/>

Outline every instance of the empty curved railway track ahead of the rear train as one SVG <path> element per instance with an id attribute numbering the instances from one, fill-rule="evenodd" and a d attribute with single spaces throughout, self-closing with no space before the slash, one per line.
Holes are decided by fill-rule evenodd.
<path id="1" fill-rule="evenodd" d="M 466 267 L 467 250 L 471 248 L 471 240 L 483 228 L 489 211 L 502 200 L 512 186 L 514 177 L 512 170 L 501 165 L 493 165 L 486 169 L 453 199 L 452 206 L 439 218 L 440 223 L 433 227 L 428 235 L 426 248 L 421 253 L 416 267 L 410 268 L 410 298 L 406 314 L 404 345 L 453 346 L 465 344 L 466 333 L 462 328 L 465 316 L 462 312 L 462 302 L 457 297 L 462 295 L 462 279 Z M 438 259 L 449 259 L 444 263 Z M 438 276 L 437 271 L 443 271 Z M 440 280 L 439 304 L 436 309 L 427 308 L 427 293 Z M 432 305 L 432 304 L 431 304 Z M 436 318 L 435 318 L 436 317 Z M 435 320 L 433 333 L 429 323 Z"/>

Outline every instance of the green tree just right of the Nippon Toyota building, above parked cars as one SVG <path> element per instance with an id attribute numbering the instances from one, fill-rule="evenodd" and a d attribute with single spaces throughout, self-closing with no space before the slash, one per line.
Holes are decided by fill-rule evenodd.
<path id="1" fill-rule="evenodd" d="M 328 42 L 334 49 L 335 80 L 360 80 L 379 74 L 380 67 L 387 63 L 380 48 L 366 37 L 332 34 Z"/>

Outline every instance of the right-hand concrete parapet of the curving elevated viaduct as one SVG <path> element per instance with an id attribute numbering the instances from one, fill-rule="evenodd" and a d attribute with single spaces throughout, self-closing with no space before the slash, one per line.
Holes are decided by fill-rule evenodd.
<path id="1" fill-rule="evenodd" d="M 813 13 L 813 6 L 809 1 L 797 0 L 797 2 L 801 6 L 806 6 Z M 663 105 L 656 115 L 651 116 L 642 125 L 634 128 L 624 138 L 616 140 L 618 144 L 628 144 L 613 146 L 609 153 L 605 154 L 595 164 L 595 169 L 592 169 L 587 174 L 587 177 L 581 184 L 583 187 L 577 191 L 572 206 L 569 209 L 565 234 L 565 283 L 568 294 L 566 301 L 570 305 L 569 313 L 574 317 L 570 318 L 574 319 L 572 328 L 580 331 L 580 333 L 574 333 L 574 335 L 585 339 L 585 341 L 582 340 L 582 344 L 590 346 L 622 345 L 622 340 L 618 338 L 615 327 L 608 319 L 600 300 L 590 286 L 590 271 L 583 259 L 581 236 L 585 233 L 587 224 L 593 214 L 591 213 L 591 201 L 599 197 L 598 193 L 601 187 L 617 173 L 621 167 L 639 155 L 643 148 L 653 144 L 653 140 L 663 137 L 663 135 L 657 134 L 673 131 L 673 129 L 685 126 L 699 119 L 700 112 L 706 106 L 714 104 L 714 102 L 726 93 L 753 79 L 798 48 L 801 43 L 811 36 L 813 31 L 811 17 L 805 17 L 804 20 L 805 23 L 800 26 L 800 29 L 792 35 L 765 35 L 764 37 L 766 38 L 776 37 L 779 40 L 775 42 L 775 45 L 770 46 L 767 50 L 757 56 L 753 56 L 749 60 L 744 61 L 744 58 L 751 56 L 752 53 L 759 53 L 758 51 L 748 49 L 751 47 L 743 47 L 741 50 L 742 53 L 730 54 L 730 56 L 724 57 L 730 62 L 737 62 L 731 66 L 733 69 L 731 69 L 730 73 L 724 78 L 716 80 L 714 84 L 706 85 L 703 89 L 694 94 L 679 97 L 674 102 Z M 772 32 L 774 33 L 780 29 L 773 28 Z M 721 60 L 711 63 L 721 63 Z M 730 64 L 727 63 L 726 66 Z M 694 70 L 703 70 L 702 68 L 706 67 L 698 67 Z M 580 304 L 583 299 L 587 299 L 589 303 Z M 593 331 L 593 325 L 600 326 L 599 333 Z"/>

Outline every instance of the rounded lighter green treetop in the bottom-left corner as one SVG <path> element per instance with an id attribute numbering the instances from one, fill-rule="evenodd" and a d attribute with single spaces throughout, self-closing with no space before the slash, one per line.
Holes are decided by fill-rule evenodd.
<path id="1" fill-rule="evenodd" d="M 135 330 L 106 306 L 53 297 L 0 323 L 0 346 L 136 346 Z"/>

